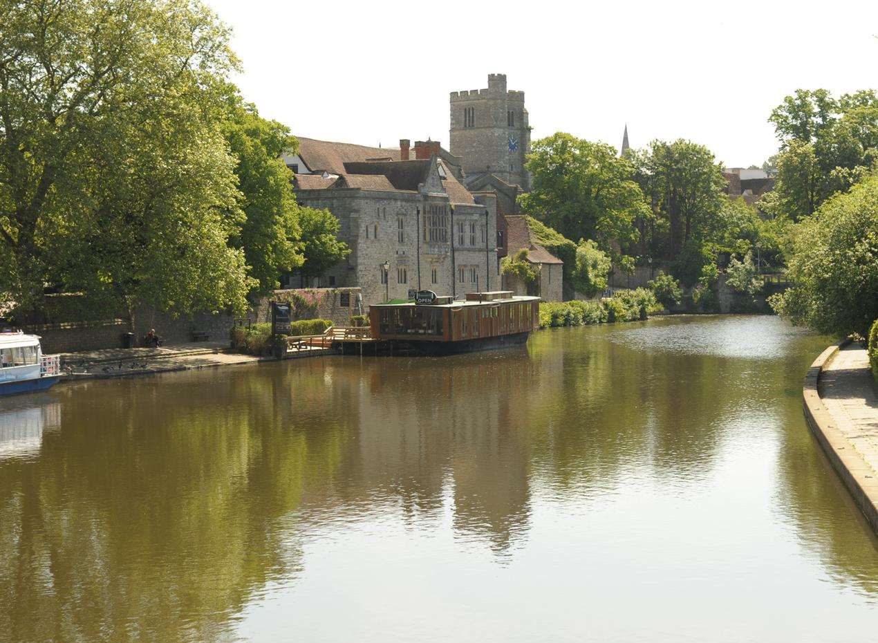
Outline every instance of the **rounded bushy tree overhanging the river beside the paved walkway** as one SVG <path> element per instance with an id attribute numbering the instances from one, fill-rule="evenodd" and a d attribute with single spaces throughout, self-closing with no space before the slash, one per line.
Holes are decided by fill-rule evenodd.
<path id="1" fill-rule="evenodd" d="M 867 336 L 878 319 L 878 177 L 827 200 L 796 227 L 788 257 L 791 286 L 774 310 L 833 335 Z"/>

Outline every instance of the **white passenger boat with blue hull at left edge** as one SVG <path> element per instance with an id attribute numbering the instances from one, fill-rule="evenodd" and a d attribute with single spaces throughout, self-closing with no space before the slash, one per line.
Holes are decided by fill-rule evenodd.
<path id="1" fill-rule="evenodd" d="M 44 391 L 61 379 L 61 356 L 43 355 L 40 337 L 0 332 L 0 395 Z"/>

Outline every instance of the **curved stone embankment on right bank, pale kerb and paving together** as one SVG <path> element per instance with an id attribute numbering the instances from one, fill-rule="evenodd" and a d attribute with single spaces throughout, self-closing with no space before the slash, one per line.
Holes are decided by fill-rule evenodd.
<path id="1" fill-rule="evenodd" d="M 866 350 L 824 350 L 805 376 L 805 416 L 853 500 L 878 532 L 878 389 Z"/>

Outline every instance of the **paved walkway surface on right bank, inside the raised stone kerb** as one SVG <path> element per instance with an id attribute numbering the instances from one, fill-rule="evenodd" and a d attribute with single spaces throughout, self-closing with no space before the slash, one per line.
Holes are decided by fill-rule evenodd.
<path id="1" fill-rule="evenodd" d="M 878 389 L 866 350 L 857 343 L 838 350 L 817 390 L 838 431 L 878 478 Z"/>

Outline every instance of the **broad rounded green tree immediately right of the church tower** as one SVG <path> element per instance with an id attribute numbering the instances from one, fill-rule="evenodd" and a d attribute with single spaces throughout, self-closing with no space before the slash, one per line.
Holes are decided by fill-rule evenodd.
<path id="1" fill-rule="evenodd" d="M 601 249 L 633 242 L 635 220 L 649 215 L 631 164 L 612 146 L 559 132 L 533 143 L 526 167 L 533 180 L 519 198 L 522 211 L 568 239 Z"/>

